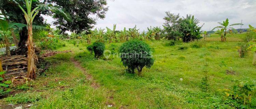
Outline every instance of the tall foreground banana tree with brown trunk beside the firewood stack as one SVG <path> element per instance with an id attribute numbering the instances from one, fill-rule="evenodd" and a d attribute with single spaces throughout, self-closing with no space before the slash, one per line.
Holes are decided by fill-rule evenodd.
<path id="1" fill-rule="evenodd" d="M 46 5 L 46 4 L 40 4 L 37 5 L 33 10 L 31 9 L 32 2 L 34 0 L 25 0 L 25 5 L 26 5 L 26 10 L 27 12 L 23 9 L 23 7 L 16 2 L 15 0 L 12 0 L 14 3 L 18 5 L 18 7 L 22 10 L 24 13 L 24 17 L 26 19 L 27 25 L 28 25 L 28 41 L 27 41 L 27 47 L 28 47 L 28 69 L 27 69 L 27 77 L 31 79 L 35 79 L 35 72 L 36 72 L 36 66 L 35 66 L 35 60 L 37 60 L 37 56 L 35 55 L 35 50 L 33 48 L 33 33 L 32 33 L 32 24 L 35 16 L 39 13 L 41 10 L 50 10 L 52 12 L 60 12 L 62 15 L 69 19 L 71 19 L 67 16 L 66 13 L 64 13 L 62 10 L 54 7 L 53 5 Z"/>

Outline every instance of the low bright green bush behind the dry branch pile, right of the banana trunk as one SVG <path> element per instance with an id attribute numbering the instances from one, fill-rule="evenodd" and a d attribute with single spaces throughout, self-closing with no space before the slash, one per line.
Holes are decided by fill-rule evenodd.
<path id="1" fill-rule="evenodd" d="M 45 40 L 39 43 L 39 47 L 41 47 L 43 50 L 55 50 L 62 47 L 63 45 L 64 44 L 59 40 L 59 38 L 52 37 L 47 37 Z"/>

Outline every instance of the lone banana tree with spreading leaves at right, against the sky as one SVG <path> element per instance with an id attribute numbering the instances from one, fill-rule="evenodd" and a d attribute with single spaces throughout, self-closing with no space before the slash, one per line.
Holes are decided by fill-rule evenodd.
<path id="1" fill-rule="evenodd" d="M 229 29 L 229 30 L 233 30 L 233 31 L 237 32 L 237 30 L 236 30 L 236 29 L 234 29 L 234 28 L 233 28 L 233 27 L 231 27 L 231 26 L 243 25 L 243 24 L 239 24 L 239 23 L 229 25 L 228 19 L 226 19 L 226 21 L 223 21 L 223 23 L 218 22 L 218 24 L 219 24 L 219 25 L 221 25 L 221 26 L 214 27 L 214 28 L 212 29 L 212 31 L 213 31 L 214 29 L 216 29 L 216 28 L 224 29 L 224 36 L 221 36 L 221 41 L 222 41 L 222 42 L 226 41 L 226 37 L 227 37 L 227 30 L 228 30 L 228 29 Z"/>

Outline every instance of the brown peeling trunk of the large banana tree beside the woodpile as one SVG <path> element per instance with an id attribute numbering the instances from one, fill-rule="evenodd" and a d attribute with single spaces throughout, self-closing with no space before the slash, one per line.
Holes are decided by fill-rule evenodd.
<path id="1" fill-rule="evenodd" d="M 37 55 L 35 55 L 35 50 L 33 48 L 33 36 L 32 36 L 32 22 L 28 23 L 28 74 L 27 77 L 31 79 L 35 79 L 35 60 L 37 59 Z"/>

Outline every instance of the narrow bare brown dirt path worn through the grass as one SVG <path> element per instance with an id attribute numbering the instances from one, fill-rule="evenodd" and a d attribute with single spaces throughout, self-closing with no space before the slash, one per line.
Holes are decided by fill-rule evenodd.
<path id="1" fill-rule="evenodd" d="M 93 87 L 94 89 L 97 89 L 97 88 L 100 87 L 100 84 L 98 84 L 98 83 L 93 79 L 93 76 L 91 76 L 90 74 L 88 74 L 88 73 L 86 72 L 86 69 L 81 66 L 80 62 L 76 61 L 73 57 L 70 58 L 70 61 L 75 64 L 75 67 L 77 67 L 77 68 L 79 68 L 81 71 L 83 71 L 83 73 L 84 73 L 85 76 L 86 76 L 86 79 L 91 81 L 91 87 Z"/>

